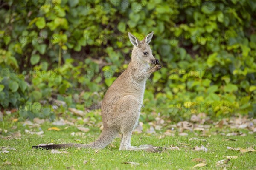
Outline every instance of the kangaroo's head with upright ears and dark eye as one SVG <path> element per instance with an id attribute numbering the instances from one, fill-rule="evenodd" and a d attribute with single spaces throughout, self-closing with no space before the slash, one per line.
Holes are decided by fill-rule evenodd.
<path id="1" fill-rule="evenodd" d="M 156 59 L 152 54 L 152 50 L 148 45 L 153 37 L 154 32 L 149 33 L 142 41 L 139 41 L 133 34 L 128 32 L 129 39 L 134 45 L 131 60 L 136 62 L 156 64 Z"/>

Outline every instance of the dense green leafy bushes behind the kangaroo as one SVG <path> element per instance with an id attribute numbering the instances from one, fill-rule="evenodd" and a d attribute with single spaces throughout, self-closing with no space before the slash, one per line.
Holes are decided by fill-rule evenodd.
<path id="1" fill-rule="evenodd" d="M 154 31 L 153 54 L 163 65 L 148 81 L 144 112 L 174 120 L 255 116 L 253 0 L 0 2 L 0 104 L 22 108 L 20 116 L 53 117 L 50 105 L 36 109 L 50 98 L 97 107 L 127 67 L 128 31 L 140 39 Z"/>

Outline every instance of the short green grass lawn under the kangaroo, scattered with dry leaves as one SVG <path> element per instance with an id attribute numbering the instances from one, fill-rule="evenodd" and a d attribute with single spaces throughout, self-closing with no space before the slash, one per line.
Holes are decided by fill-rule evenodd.
<path id="1" fill-rule="evenodd" d="M 12 126 L 17 126 L 13 130 Z M 1 147 L 14 147 L 15 150 L 10 150 L 9 153 L 0 153 L 0 167 L 5 170 L 13 169 L 192 169 L 196 162 L 194 158 L 206 159 L 207 166 L 196 169 L 253 169 L 248 167 L 256 166 L 256 152 L 240 153 L 239 151 L 228 150 L 230 147 L 254 147 L 256 144 L 255 134 L 249 134 L 247 130 L 239 130 L 246 133 L 247 136 L 231 136 L 230 139 L 237 141 L 225 141 L 226 136 L 219 134 L 211 137 L 195 136 L 193 132 L 186 137 L 171 137 L 166 136 L 160 138 L 162 132 L 157 131 L 154 135 L 135 134 L 132 137 L 132 145 L 152 144 L 160 147 L 170 147 L 178 145 L 177 142 L 191 144 L 189 147 L 181 147 L 180 150 L 163 150 L 161 153 L 148 153 L 143 151 L 119 151 L 119 139 L 113 141 L 113 145 L 102 150 L 93 149 L 66 149 L 68 153 L 53 154 L 51 150 L 32 149 L 32 145 L 41 143 L 64 143 L 76 142 L 80 140 L 82 143 L 87 143 L 88 136 L 96 137 L 99 135 L 99 130 L 93 127 L 92 130 L 85 133 L 84 136 L 71 136 L 72 132 L 79 132 L 75 126 L 64 129 L 66 126 L 60 126 L 61 131 L 47 131 L 52 127 L 49 122 L 41 125 L 44 131 L 43 137 L 38 135 L 30 135 L 25 133 L 25 129 L 29 129 L 29 125 L 23 126 L 21 122 L 11 122 L 4 120 L 1 122 L 1 128 L 7 129 L 8 132 L 3 132 L 2 137 L 10 136 L 12 132 L 20 130 L 21 139 L 6 139 L 1 138 Z M 34 127 L 32 129 L 37 129 Z M 212 128 L 208 133 L 214 134 L 217 129 Z M 235 131 L 235 129 L 222 129 L 226 133 Z M 200 132 L 197 132 L 200 134 Z M 198 137 L 199 141 L 191 142 L 189 138 Z M 206 140 L 206 141 L 205 141 Z M 203 144 L 209 150 L 207 153 L 203 151 L 194 152 L 192 147 Z M 226 156 L 238 156 L 237 159 L 231 159 L 223 166 L 216 166 L 216 162 L 225 159 Z M 84 164 L 84 161 L 88 161 Z M 122 164 L 121 162 L 137 162 L 139 165 Z M 255 168 L 254 168 L 255 169 Z"/>

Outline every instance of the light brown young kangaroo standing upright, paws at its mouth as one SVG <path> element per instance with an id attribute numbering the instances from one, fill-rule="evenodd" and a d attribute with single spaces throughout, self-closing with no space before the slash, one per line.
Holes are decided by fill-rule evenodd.
<path id="1" fill-rule="evenodd" d="M 148 45 L 153 31 L 142 41 L 130 32 L 128 37 L 134 45 L 128 68 L 108 88 L 102 101 L 103 130 L 96 141 L 90 144 L 52 144 L 33 146 L 33 148 L 58 149 L 62 147 L 79 147 L 102 149 L 118 135 L 122 134 L 119 150 L 145 150 L 157 152 L 151 145 L 131 146 L 131 134 L 138 124 L 140 108 L 143 103 L 146 80 L 151 73 L 161 69 L 159 60 L 152 55 Z M 151 65 L 151 66 L 150 66 Z"/>

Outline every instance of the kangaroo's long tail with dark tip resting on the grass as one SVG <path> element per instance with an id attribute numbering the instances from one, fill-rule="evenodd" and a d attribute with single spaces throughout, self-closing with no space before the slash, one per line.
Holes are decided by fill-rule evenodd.
<path id="1" fill-rule="evenodd" d="M 60 148 L 67 148 L 67 147 L 80 147 L 80 148 L 94 148 L 94 149 L 103 149 L 111 141 L 116 137 L 117 132 L 109 129 L 103 129 L 102 133 L 100 134 L 99 138 L 90 143 L 90 144 L 76 144 L 76 143 L 68 143 L 68 144 L 50 144 L 44 146 L 32 146 L 32 148 L 38 149 L 60 149 Z"/>

